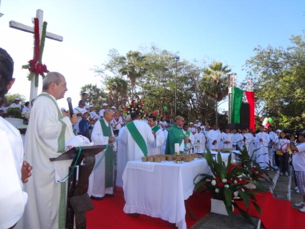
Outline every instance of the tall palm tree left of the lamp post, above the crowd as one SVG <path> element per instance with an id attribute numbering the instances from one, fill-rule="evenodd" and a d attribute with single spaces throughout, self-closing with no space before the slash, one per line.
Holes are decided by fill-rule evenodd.
<path id="1" fill-rule="evenodd" d="M 133 99 L 136 79 L 143 76 L 146 71 L 145 55 L 138 51 L 129 51 L 126 57 L 121 57 L 121 61 L 124 62 L 124 65 L 119 69 L 119 72 L 130 79 L 131 98 Z"/>

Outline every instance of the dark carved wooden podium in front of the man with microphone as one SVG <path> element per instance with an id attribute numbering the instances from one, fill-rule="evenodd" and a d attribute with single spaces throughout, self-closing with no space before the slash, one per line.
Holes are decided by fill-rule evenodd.
<path id="1" fill-rule="evenodd" d="M 108 147 L 112 147 L 111 145 Z M 74 217 L 76 222 L 76 229 L 86 228 L 86 215 L 85 212 L 93 209 L 93 205 L 87 194 L 88 179 L 95 165 L 95 155 L 105 150 L 106 146 L 87 146 L 81 147 L 81 154 L 77 159 L 79 148 L 74 147 L 66 153 L 56 158 L 50 158 L 50 161 L 61 161 L 73 159 L 71 166 L 69 167 L 69 174 L 71 176 L 68 180 L 68 191 L 67 191 L 67 218 L 66 228 L 73 229 Z M 77 162 L 76 162 L 77 160 Z M 73 169 L 73 165 L 78 165 L 78 181 L 77 168 Z M 81 162 L 83 164 L 81 165 Z"/>

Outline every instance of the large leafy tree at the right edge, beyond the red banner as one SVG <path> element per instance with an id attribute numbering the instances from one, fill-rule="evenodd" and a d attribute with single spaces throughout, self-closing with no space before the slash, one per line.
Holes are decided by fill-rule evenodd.
<path id="1" fill-rule="evenodd" d="M 255 56 L 246 62 L 254 78 L 260 114 L 272 117 L 277 128 L 305 128 L 305 41 L 292 36 L 287 48 L 256 47 Z"/>

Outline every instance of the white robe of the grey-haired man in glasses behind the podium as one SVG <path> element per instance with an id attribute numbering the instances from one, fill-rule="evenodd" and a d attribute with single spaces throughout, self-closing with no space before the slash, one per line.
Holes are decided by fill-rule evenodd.
<path id="1" fill-rule="evenodd" d="M 104 119 L 105 124 L 109 127 L 109 123 Z M 111 134 L 114 136 L 112 128 Z M 109 137 L 103 135 L 103 130 L 100 121 L 98 121 L 93 128 L 91 139 L 94 145 L 108 145 Z M 113 151 L 116 151 L 116 142 L 113 144 Z M 113 187 L 105 187 L 105 150 L 96 155 L 96 162 L 99 163 L 100 159 L 103 158 L 100 165 L 93 171 L 89 177 L 88 195 L 103 197 L 105 194 L 113 194 Z"/>

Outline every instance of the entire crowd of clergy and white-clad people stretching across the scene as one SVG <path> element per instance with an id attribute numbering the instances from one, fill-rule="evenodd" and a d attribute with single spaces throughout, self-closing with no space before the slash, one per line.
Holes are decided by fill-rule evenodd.
<path id="1" fill-rule="evenodd" d="M 13 60 L 0 48 L 0 105 L 12 87 Z M 19 131 L 0 117 L 0 228 L 65 228 L 67 182 L 65 177 L 71 160 L 51 162 L 69 146 L 76 134 L 86 136 L 95 145 L 106 145 L 96 155 L 95 170 L 89 177 L 88 195 L 103 199 L 113 195 L 114 186 L 123 185 L 123 171 L 128 161 L 143 156 L 175 153 L 203 153 L 206 148 L 234 150 L 246 148 L 264 169 L 278 166 L 288 175 L 292 155 L 295 179 L 303 202 L 297 204 L 305 212 L 305 132 L 298 138 L 286 139 L 285 132 L 260 126 L 251 129 L 219 129 L 217 125 L 202 125 L 199 120 L 185 122 L 182 116 L 174 120 L 154 115 L 141 117 L 132 112 L 126 117 L 107 103 L 97 113 L 83 93 L 74 114 L 60 109 L 56 100 L 65 96 L 67 82 L 58 72 L 49 72 L 43 79 L 42 93 L 31 109 L 24 145 Z M 17 103 L 16 103 L 17 102 Z M 18 100 L 14 102 L 18 104 Z M 176 149 L 178 144 L 178 149 Z M 117 162 L 115 179 L 114 167 Z M 22 217 L 22 218 L 21 218 Z"/>

